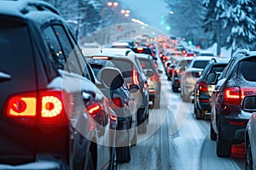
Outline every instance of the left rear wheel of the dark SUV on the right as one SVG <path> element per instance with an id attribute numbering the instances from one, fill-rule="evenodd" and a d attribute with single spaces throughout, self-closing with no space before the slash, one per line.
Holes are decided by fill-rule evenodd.
<path id="1" fill-rule="evenodd" d="M 216 141 L 216 153 L 219 157 L 229 157 L 231 153 L 232 142 L 226 139 L 224 135 L 218 130 Z"/>

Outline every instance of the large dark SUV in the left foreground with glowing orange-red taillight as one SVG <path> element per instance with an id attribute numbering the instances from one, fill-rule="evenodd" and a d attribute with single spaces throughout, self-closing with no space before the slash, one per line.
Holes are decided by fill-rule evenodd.
<path id="1" fill-rule="evenodd" d="M 0 15 L 0 168 L 114 169 L 116 115 L 65 20 L 43 1 L 1 1 Z"/>

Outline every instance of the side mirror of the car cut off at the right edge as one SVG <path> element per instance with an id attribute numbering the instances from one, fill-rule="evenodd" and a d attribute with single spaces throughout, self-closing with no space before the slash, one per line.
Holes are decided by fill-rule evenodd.
<path id="1" fill-rule="evenodd" d="M 241 109 L 247 112 L 256 111 L 256 95 L 249 95 L 242 99 Z"/>

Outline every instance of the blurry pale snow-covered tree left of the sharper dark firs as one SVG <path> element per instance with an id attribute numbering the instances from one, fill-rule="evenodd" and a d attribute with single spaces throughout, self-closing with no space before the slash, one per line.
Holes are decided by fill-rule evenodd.
<path id="1" fill-rule="evenodd" d="M 208 42 L 208 36 L 202 29 L 206 10 L 201 0 L 166 0 L 166 3 L 174 12 L 166 15 L 166 22 L 171 26 L 172 35 L 185 37 L 196 45 Z"/>

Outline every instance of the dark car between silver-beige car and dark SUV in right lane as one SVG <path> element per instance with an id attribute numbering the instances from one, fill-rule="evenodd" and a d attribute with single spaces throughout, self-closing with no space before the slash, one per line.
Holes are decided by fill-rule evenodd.
<path id="1" fill-rule="evenodd" d="M 208 85 L 206 83 L 207 74 L 210 72 L 216 72 L 218 75 L 224 71 L 224 68 L 228 65 L 229 59 L 217 60 L 212 59 L 208 62 L 206 68 L 202 71 L 201 77 L 195 83 L 195 100 L 194 100 L 194 113 L 196 119 L 204 119 L 205 116 L 211 113 L 211 95 L 214 89 L 214 85 Z"/>

